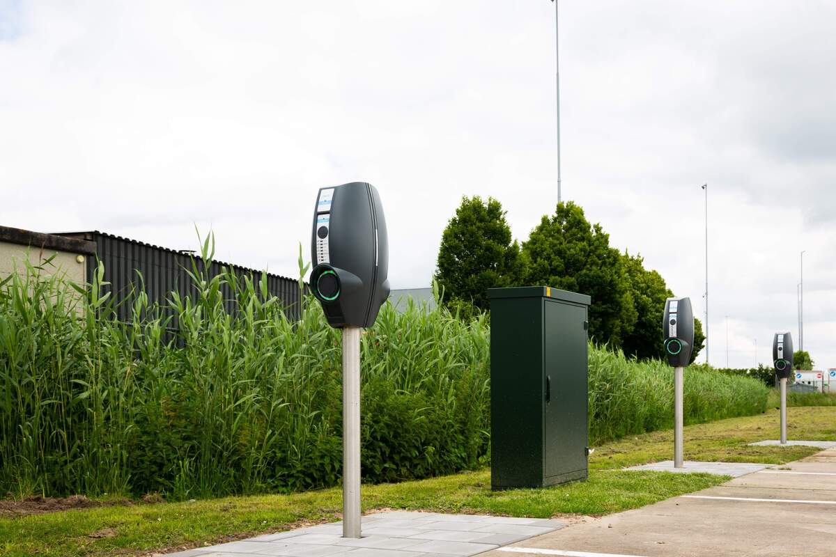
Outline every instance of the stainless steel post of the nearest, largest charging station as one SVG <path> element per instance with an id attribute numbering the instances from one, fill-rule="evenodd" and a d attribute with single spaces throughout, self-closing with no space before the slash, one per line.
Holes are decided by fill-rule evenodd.
<path id="1" fill-rule="evenodd" d="M 343 537 L 360 537 L 360 328 L 343 329 Z"/>

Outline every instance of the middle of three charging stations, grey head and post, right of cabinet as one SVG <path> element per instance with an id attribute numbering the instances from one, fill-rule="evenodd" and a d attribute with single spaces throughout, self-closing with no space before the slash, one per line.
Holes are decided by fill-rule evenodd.
<path id="1" fill-rule="evenodd" d="M 694 350 L 694 314 L 691 298 L 668 298 L 662 317 L 665 356 L 674 367 L 674 468 L 683 468 L 682 383 Z"/>

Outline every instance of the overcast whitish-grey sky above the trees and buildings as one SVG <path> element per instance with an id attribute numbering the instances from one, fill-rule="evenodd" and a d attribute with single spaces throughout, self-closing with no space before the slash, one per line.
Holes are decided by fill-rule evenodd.
<path id="1" fill-rule="evenodd" d="M 677 296 L 711 363 L 772 333 L 836 367 L 836 3 L 560 5 L 563 196 Z M 427 286 L 462 195 L 524 241 L 557 200 L 547 0 L 0 0 L 0 224 L 102 230 L 297 276 L 319 187 L 385 205 Z M 701 358 L 702 359 L 702 358 Z"/>

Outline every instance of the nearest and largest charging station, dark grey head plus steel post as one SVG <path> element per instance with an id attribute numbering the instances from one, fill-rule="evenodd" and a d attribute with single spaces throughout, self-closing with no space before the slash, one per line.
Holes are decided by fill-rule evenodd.
<path id="1" fill-rule="evenodd" d="M 360 537 L 360 328 L 389 297 L 389 239 L 375 186 L 321 188 L 311 235 L 310 288 L 343 330 L 343 537 Z"/>

